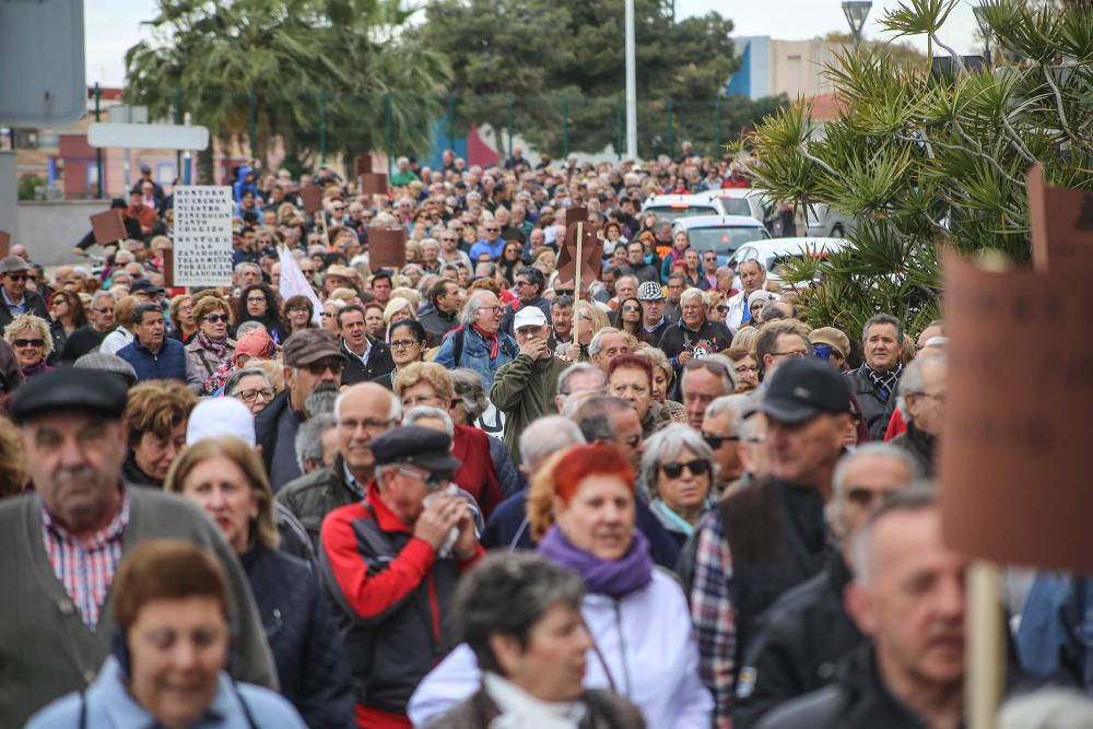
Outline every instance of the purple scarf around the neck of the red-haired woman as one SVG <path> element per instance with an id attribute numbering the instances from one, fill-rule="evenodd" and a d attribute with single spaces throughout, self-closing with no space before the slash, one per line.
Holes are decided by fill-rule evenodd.
<path id="1" fill-rule="evenodd" d="M 539 542 L 539 552 L 562 567 L 585 579 L 589 592 L 621 600 L 653 581 L 653 557 L 649 542 L 637 529 L 630 550 L 620 560 L 601 560 L 574 546 L 557 525 L 551 527 Z"/>

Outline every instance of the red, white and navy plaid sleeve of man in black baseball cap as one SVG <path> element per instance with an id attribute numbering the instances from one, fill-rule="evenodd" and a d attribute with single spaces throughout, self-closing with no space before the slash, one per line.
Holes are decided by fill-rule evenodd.
<path id="1" fill-rule="evenodd" d="M 732 727 L 737 622 L 731 584 L 732 554 L 721 514 L 715 508 L 698 525 L 691 587 L 691 620 L 698 637 L 698 674 L 714 694 L 714 729 Z"/>

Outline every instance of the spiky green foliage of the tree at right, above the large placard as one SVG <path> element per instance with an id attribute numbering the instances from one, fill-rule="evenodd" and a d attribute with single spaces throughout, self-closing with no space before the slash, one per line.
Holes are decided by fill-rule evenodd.
<path id="1" fill-rule="evenodd" d="M 953 4 L 906 0 L 882 25 L 947 49 Z M 756 129 L 752 167 L 773 197 L 827 203 L 857 222 L 846 251 L 785 273 L 804 286 L 810 322 L 858 331 L 886 311 L 916 331 L 939 311 L 942 250 L 1029 260 L 1024 178 L 1034 162 L 1050 185 L 1093 189 L 1093 9 L 983 4 L 1001 51 L 992 68 L 931 78 L 925 62 L 875 45 L 847 50 L 826 70 L 844 105 L 836 120 L 820 128 L 802 104 Z"/>

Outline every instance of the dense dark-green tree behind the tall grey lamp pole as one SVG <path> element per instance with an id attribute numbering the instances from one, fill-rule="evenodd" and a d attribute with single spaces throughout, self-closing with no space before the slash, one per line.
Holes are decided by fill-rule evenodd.
<path id="1" fill-rule="evenodd" d="M 675 22 L 670 0 L 637 0 L 638 118 L 651 133 L 642 156 L 678 152 L 683 140 L 716 153 L 756 117 L 750 102 L 718 104 L 738 68 L 732 22 L 710 12 Z M 623 3 L 589 0 L 436 0 L 412 32 L 453 70 L 457 133 L 471 124 L 512 128 L 538 149 L 599 152 L 624 119 Z M 771 103 L 765 104 L 766 107 Z M 671 124 L 669 124 L 671 117 Z"/>

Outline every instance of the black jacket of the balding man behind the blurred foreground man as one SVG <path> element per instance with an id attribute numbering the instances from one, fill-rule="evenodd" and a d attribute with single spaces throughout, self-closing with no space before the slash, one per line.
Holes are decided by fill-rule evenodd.
<path id="1" fill-rule="evenodd" d="M 837 663 L 866 643 L 843 607 L 851 577 L 842 555 L 832 551 L 822 573 L 763 613 L 737 681 L 736 729 L 754 727 L 775 707 L 823 689 L 834 680 Z"/>

